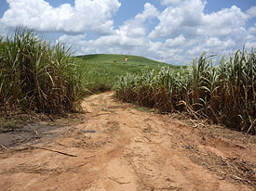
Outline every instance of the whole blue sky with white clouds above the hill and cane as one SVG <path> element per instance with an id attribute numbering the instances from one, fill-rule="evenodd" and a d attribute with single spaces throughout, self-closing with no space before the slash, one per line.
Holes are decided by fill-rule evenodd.
<path id="1" fill-rule="evenodd" d="M 256 0 L 0 0 L 0 33 L 17 26 L 73 46 L 185 65 L 256 47 Z"/>

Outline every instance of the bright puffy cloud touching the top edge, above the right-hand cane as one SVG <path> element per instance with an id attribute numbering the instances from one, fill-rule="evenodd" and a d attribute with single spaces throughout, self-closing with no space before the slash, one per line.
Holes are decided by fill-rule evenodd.
<path id="1" fill-rule="evenodd" d="M 174 37 L 181 33 L 188 37 L 202 35 L 228 36 L 238 32 L 249 16 L 232 6 L 210 14 L 204 13 L 206 2 L 186 0 L 178 6 L 168 6 L 158 17 L 159 24 L 150 37 Z"/>

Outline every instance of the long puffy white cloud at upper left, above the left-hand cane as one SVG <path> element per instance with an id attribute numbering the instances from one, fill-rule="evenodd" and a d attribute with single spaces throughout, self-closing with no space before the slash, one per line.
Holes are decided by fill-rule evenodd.
<path id="1" fill-rule="evenodd" d="M 2 22 L 9 27 L 20 24 L 41 32 L 113 32 L 112 17 L 118 0 L 75 0 L 74 6 L 50 6 L 44 0 L 7 0 L 9 9 Z"/>

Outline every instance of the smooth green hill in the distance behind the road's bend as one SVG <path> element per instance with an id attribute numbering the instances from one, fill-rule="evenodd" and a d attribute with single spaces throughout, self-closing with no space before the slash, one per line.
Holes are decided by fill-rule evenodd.
<path id="1" fill-rule="evenodd" d="M 124 58 L 128 57 L 125 61 Z M 111 90 L 117 76 L 139 74 L 141 69 L 160 70 L 170 66 L 179 69 L 179 66 L 168 65 L 152 59 L 128 55 L 85 55 L 76 57 L 76 61 L 85 70 L 84 83 L 93 93 Z"/>

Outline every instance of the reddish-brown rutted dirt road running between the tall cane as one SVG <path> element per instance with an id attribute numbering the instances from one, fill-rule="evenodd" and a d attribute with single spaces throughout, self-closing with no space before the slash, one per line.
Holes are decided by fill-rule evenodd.
<path id="1" fill-rule="evenodd" d="M 83 106 L 85 120 L 51 140 L 2 150 L 1 191 L 256 189 L 256 144 L 139 111 L 111 92 Z"/>

